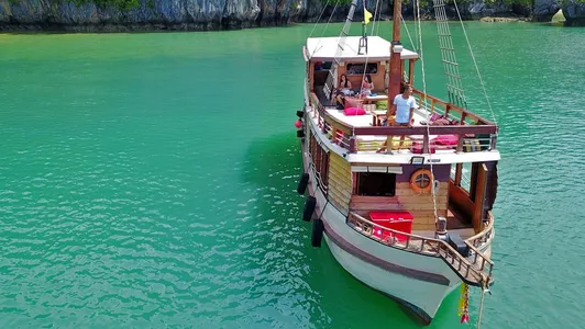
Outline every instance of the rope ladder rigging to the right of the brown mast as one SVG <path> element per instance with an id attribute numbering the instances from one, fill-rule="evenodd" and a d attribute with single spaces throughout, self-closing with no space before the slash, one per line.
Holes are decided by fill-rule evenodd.
<path id="1" fill-rule="evenodd" d="M 439 35 L 439 47 L 441 48 L 441 59 L 446 76 L 446 91 L 449 102 L 460 107 L 467 109 L 465 91 L 461 82 L 455 47 L 449 30 L 444 0 L 433 0 L 434 16 L 437 20 L 437 32 Z"/>

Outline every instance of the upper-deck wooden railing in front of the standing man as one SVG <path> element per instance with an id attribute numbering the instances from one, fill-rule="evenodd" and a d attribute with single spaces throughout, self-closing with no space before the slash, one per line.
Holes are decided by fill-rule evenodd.
<path id="1" fill-rule="evenodd" d="M 429 98 L 430 99 L 430 98 Z M 319 128 L 329 136 L 330 140 L 340 147 L 347 149 L 349 152 L 358 152 L 358 151 L 372 151 L 377 149 L 379 145 L 372 145 L 367 143 L 367 138 L 372 136 L 395 136 L 395 138 L 405 136 L 421 136 L 422 140 L 409 140 L 405 143 L 405 148 L 409 147 L 408 145 L 415 145 L 415 143 L 420 143 L 420 148 L 423 154 L 429 154 L 431 149 L 438 149 L 439 146 L 429 139 L 430 135 L 456 135 L 457 144 L 456 146 L 448 147 L 454 152 L 463 151 L 482 151 L 482 150 L 493 150 L 496 148 L 496 134 L 497 125 L 481 118 L 479 116 L 450 105 L 444 101 L 440 101 L 435 98 L 430 99 L 437 100 L 433 103 L 433 111 L 437 110 L 441 104 L 446 105 L 446 113 L 462 113 L 464 118 L 471 117 L 476 118 L 477 122 L 474 124 L 456 124 L 456 125 L 431 125 L 431 126 L 415 126 L 415 127 L 404 127 L 404 126 L 351 126 L 347 123 L 340 121 L 339 118 L 330 115 L 327 112 L 327 109 L 321 104 L 318 97 L 314 93 L 310 93 L 309 97 L 312 113 L 310 115 L 317 121 Z M 429 134 L 428 134 L 429 133 Z M 368 137 L 365 137 L 368 136 Z M 365 138 L 364 138 L 365 137 Z M 380 141 L 380 140 L 378 140 Z M 394 143 L 393 143 L 394 146 Z"/>

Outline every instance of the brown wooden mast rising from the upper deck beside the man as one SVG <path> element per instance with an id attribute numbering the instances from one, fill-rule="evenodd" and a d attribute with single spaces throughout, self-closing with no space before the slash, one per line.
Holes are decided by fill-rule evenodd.
<path id="1" fill-rule="evenodd" d="M 388 116 L 390 115 L 391 104 L 394 98 L 400 93 L 401 76 L 400 72 L 400 53 L 402 45 L 400 44 L 400 19 L 402 15 L 401 0 L 394 0 L 393 14 L 393 41 L 390 45 L 390 76 L 388 79 Z"/>

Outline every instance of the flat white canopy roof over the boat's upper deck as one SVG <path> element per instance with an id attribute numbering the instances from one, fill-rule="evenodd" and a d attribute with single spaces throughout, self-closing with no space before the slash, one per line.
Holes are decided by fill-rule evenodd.
<path id="1" fill-rule="evenodd" d="M 331 61 L 335 58 L 339 44 L 339 36 L 333 37 L 309 37 L 307 38 L 307 57 L 311 61 Z M 343 60 L 367 60 L 383 61 L 390 58 L 390 42 L 379 36 L 367 37 L 367 54 L 357 55 L 360 36 L 346 36 L 345 46 L 340 56 Z M 365 53 L 362 50 L 362 53 Z M 418 54 L 408 49 L 402 49 L 400 57 L 402 59 L 418 58 Z"/>

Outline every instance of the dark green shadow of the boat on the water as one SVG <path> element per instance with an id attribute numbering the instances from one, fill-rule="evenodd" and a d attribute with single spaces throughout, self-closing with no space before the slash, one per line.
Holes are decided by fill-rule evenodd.
<path id="1" fill-rule="evenodd" d="M 311 247 L 311 223 L 301 219 L 305 196 L 296 191 L 301 173 L 295 132 L 257 139 L 246 150 L 242 179 L 255 190 L 257 201 L 251 215 L 254 240 L 262 249 L 255 256 L 262 260 L 250 264 L 269 273 L 274 287 L 286 287 L 272 306 L 288 307 L 295 320 L 310 327 L 422 328 L 405 306 L 346 272 L 324 241 L 321 248 Z M 266 292 L 266 287 L 254 290 Z M 456 324 L 456 292 L 443 300 L 426 328 Z"/>

